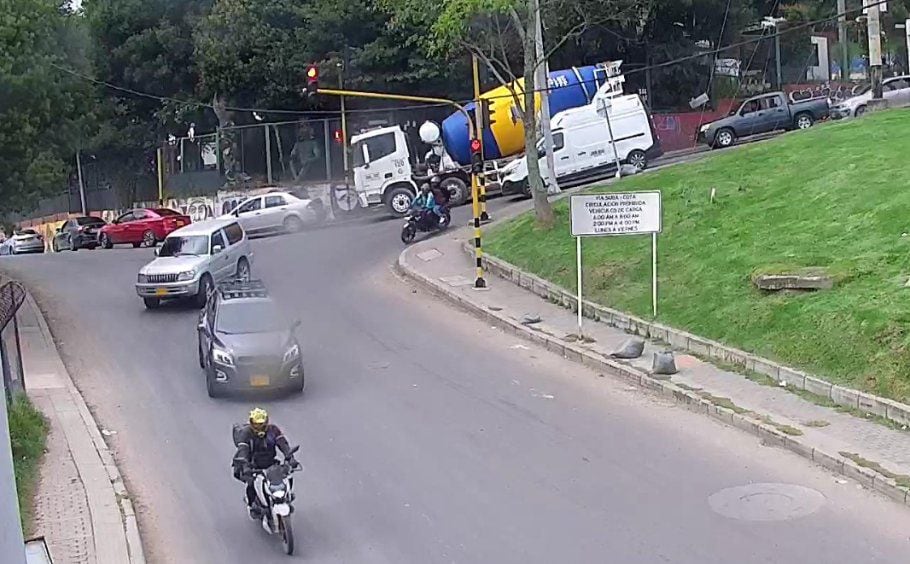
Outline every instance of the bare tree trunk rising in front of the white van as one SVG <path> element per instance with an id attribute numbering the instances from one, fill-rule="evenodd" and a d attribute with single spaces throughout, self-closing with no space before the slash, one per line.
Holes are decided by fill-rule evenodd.
<path id="1" fill-rule="evenodd" d="M 537 112 L 534 109 L 534 92 L 540 86 L 534 81 L 537 63 L 537 46 L 534 30 L 540 15 L 537 0 L 530 0 L 528 26 L 524 34 L 524 108 L 522 122 L 525 130 L 525 158 L 528 161 L 528 186 L 534 198 L 534 213 L 539 227 L 553 227 L 553 206 L 547 199 L 547 189 L 540 177 L 540 162 L 537 159 Z"/>

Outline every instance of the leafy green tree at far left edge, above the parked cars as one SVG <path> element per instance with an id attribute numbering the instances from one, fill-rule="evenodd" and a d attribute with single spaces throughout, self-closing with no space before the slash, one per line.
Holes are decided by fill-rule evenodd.
<path id="1" fill-rule="evenodd" d="M 65 187 L 90 88 L 72 14 L 53 0 L 0 0 L 0 212 L 28 211 Z"/>

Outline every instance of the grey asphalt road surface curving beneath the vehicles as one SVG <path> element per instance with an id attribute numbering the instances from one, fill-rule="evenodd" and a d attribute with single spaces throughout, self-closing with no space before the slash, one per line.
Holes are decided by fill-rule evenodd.
<path id="1" fill-rule="evenodd" d="M 254 274 L 303 321 L 308 377 L 303 396 L 256 402 L 206 396 L 196 311 L 143 308 L 132 283 L 151 250 L 0 259 L 116 433 L 152 562 L 287 559 L 230 476 L 231 424 L 254 403 L 302 445 L 296 559 L 907 561 L 910 512 L 896 504 L 415 292 L 390 268 L 399 228 L 366 218 L 254 242 Z M 775 512 L 780 495 L 729 508 L 764 521 L 709 503 L 763 482 L 823 497 L 798 495 L 815 509 L 804 516 Z"/>

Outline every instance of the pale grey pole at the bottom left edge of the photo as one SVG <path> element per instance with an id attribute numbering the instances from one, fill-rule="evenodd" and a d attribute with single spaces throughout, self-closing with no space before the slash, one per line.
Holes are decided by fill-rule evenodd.
<path id="1" fill-rule="evenodd" d="M 2 354 L 2 353 L 0 353 Z M 13 471 L 13 451 L 9 438 L 6 392 L 0 378 L 0 562 L 25 564 L 25 540 L 19 521 L 19 498 L 16 497 L 16 478 Z"/>

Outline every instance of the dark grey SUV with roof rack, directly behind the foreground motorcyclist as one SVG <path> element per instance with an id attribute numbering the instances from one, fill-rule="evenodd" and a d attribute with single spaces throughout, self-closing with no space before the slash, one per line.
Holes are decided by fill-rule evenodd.
<path id="1" fill-rule="evenodd" d="M 285 389 L 305 382 L 299 322 L 289 324 L 258 280 L 219 284 L 199 316 L 199 366 L 209 397 L 228 390 Z"/>

